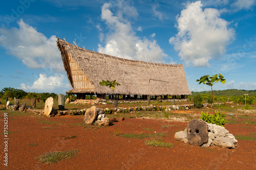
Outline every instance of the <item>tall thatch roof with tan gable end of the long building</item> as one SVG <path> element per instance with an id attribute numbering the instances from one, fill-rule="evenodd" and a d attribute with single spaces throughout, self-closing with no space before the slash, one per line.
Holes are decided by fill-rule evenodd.
<path id="1" fill-rule="evenodd" d="M 117 80 L 116 94 L 189 95 L 182 64 L 127 60 L 97 53 L 58 38 L 58 48 L 73 93 L 112 94 L 102 80 Z"/>

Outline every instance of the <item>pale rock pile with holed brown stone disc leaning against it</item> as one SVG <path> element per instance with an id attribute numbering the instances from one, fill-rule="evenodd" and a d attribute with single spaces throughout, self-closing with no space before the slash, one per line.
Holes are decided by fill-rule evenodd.
<path id="1" fill-rule="evenodd" d="M 193 119 L 190 122 L 184 131 L 175 133 L 174 138 L 176 140 L 192 145 L 200 145 L 202 147 L 210 147 L 211 145 L 229 149 L 237 147 L 238 141 L 224 127 L 215 124 L 207 124 L 201 119 Z M 201 125 L 202 122 L 204 122 L 204 126 Z M 200 126 L 190 126 L 191 124 L 200 124 Z M 207 133 L 205 133 L 205 127 Z"/>

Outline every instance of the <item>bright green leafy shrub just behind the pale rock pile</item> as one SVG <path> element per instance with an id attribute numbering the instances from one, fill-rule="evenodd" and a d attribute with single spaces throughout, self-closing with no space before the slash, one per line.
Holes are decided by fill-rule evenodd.
<path id="1" fill-rule="evenodd" d="M 208 124 L 216 124 L 219 126 L 224 126 L 225 123 L 227 123 L 227 120 L 225 118 L 224 112 L 220 113 L 220 111 L 215 110 L 215 114 L 208 114 L 208 111 L 204 113 L 203 111 L 201 112 L 201 118 Z"/>

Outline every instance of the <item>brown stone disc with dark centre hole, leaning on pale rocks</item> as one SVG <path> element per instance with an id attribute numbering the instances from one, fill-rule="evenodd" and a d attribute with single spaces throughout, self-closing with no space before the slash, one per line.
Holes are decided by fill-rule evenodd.
<path id="1" fill-rule="evenodd" d="M 193 119 L 187 124 L 189 144 L 200 146 L 208 142 L 208 126 L 202 119 Z"/>

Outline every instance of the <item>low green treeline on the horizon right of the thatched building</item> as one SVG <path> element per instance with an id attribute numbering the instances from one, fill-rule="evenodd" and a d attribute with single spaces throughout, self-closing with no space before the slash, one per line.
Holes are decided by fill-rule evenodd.
<path id="1" fill-rule="evenodd" d="M 228 89 L 228 90 L 213 90 L 215 96 L 243 96 L 248 94 L 249 96 L 256 96 L 256 90 L 238 90 L 238 89 Z M 197 94 L 211 94 L 211 91 L 192 91 L 192 96 Z"/>

